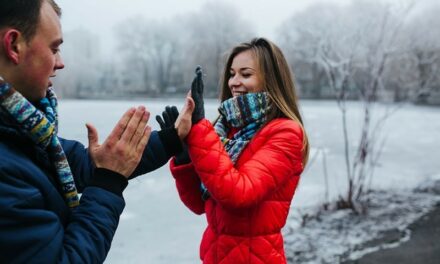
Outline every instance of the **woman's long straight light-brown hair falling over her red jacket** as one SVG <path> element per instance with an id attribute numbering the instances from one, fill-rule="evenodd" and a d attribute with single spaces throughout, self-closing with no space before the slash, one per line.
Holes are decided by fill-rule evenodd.
<path id="1" fill-rule="evenodd" d="M 265 38 L 254 38 L 250 42 L 244 42 L 232 48 L 229 53 L 222 78 L 220 79 L 221 94 L 223 102 L 232 97 L 228 81 L 231 77 L 230 68 L 235 56 L 243 51 L 251 50 L 257 60 L 259 74 L 263 81 L 263 90 L 269 95 L 272 102 L 267 113 L 267 121 L 287 117 L 296 121 L 303 130 L 303 163 L 307 163 L 309 157 L 309 142 L 301 114 L 298 108 L 298 97 L 290 67 L 284 58 L 280 48 Z M 275 107 L 273 107 L 275 106 Z"/>

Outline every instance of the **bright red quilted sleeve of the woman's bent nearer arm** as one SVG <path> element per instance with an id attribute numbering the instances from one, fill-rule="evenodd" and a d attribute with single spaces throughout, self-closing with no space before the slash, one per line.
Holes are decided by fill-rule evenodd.
<path id="1" fill-rule="evenodd" d="M 197 174 L 220 204 L 230 208 L 257 205 L 303 170 L 303 134 L 289 119 L 275 119 L 253 138 L 252 157 L 234 167 L 211 123 L 204 119 L 187 138 Z"/>

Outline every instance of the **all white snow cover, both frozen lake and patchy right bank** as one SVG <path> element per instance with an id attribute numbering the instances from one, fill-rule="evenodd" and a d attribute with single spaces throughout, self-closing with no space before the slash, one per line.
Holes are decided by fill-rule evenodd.
<path id="1" fill-rule="evenodd" d="M 181 106 L 182 103 L 183 100 L 174 99 L 63 100 L 60 102 L 60 135 L 87 145 L 84 124 L 91 122 L 97 127 L 102 142 L 125 110 L 140 104 L 150 110 L 149 123 L 158 129 L 154 116 L 167 104 Z M 321 263 L 347 250 L 354 251 L 352 256 L 363 254 L 356 245 L 388 228 L 404 229 L 435 202 L 428 194 L 412 194 L 408 190 L 431 182 L 439 175 L 440 109 L 408 105 L 391 116 L 384 128 L 387 141 L 372 185 L 387 191 L 377 191 L 371 196 L 375 207 L 369 216 L 361 218 L 348 211 L 322 213 L 320 221 L 311 220 L 306 228 L 298 228 L 298 215 L 313 212 L 311 208 L 327 199 L 322 153 L 326 153 L 329 172 L 328 199 L 335 199 L 346 186 L 341 115 L 336 103 L 303 101 L 301 105 L 312 156 L 314 153 L 317 156 L 302 175 L 284 229 L 289 257 L 293 258 L 297 252 L 301 258 L 298 263 Z M 353 151 L 359 135 L 361 106 L 355 102 L 348 106 L 350 150 Z M 216 108 L 215 100 L 206 101 L 209 119 L 215 118 Z M 378 106 L 375 110 L 382 108 Z M 192 214 L 180 202 L 167 165 L 132 180 L 124 197 L 127 206 L 106 263 L 198 263 L 206 221 L 204 216 Z M 317 251 L 313 252 L 313 248 Z"/>

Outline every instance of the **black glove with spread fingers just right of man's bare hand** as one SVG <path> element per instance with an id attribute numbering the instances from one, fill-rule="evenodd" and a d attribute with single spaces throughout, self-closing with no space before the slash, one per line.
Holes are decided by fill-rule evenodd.
<path id="1" fill-rule="evenodd" d="M 174 123 L 176 123 L 178 116 L 179 111 L 177 111 L 177 107 L 167 106 L 165 107 L 165 111 L 162 112 L 162 117 L 160 115 L 156 116 L 156 121 L 159 123 L 161 129 L 161 131 L 159 131 L 159 137 L 167 150 L 167 153 L 171 156 L 174 156 L 175 154 L 175 164 L 181 165 L 190 163 L 191 159 L 188 154 L 188 147 L 185 143 L 180 141 L 177 136 L 177 130 L 174 127 Z"/>

